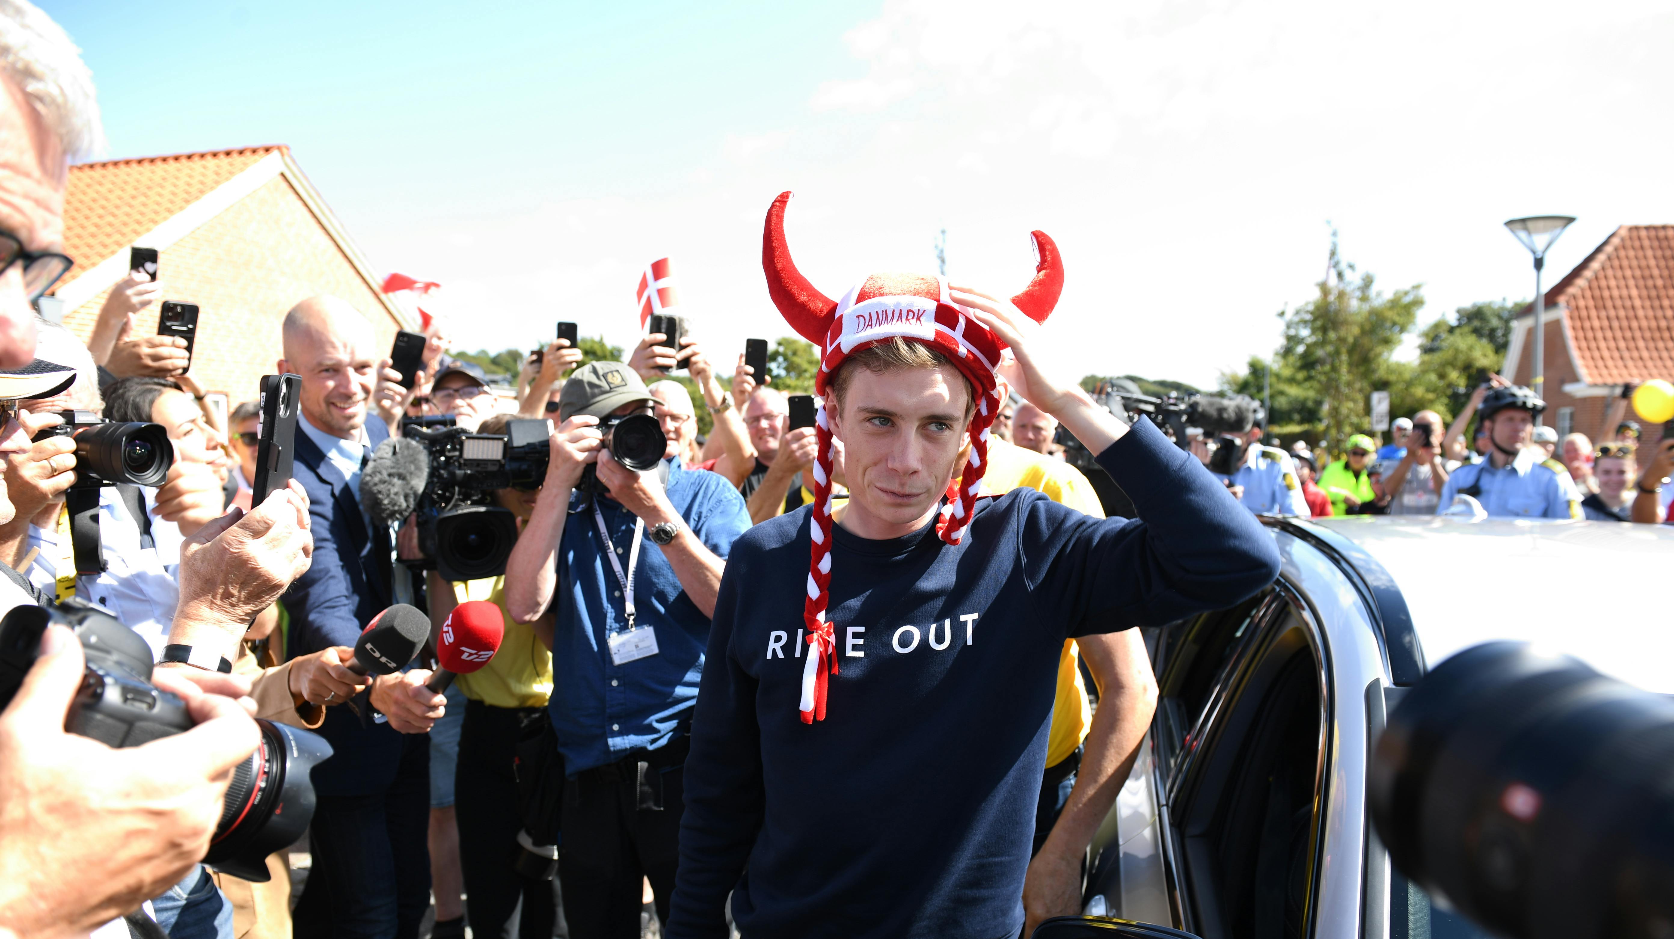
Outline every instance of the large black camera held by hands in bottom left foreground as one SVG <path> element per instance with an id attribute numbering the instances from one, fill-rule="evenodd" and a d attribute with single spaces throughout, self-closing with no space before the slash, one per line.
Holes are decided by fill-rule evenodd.
<path id="1" fill-rule="evenodd" d="M 70 598 L 52 606 L 18 606 L 0 619 L 0 708 L 12 703 L 35 663 L 49 624 L 67 626 L 82 643 L 87 668 L 64 728 L 107 747 L 139 747 L 191 730 L 186 703 L 151 683 L 151 646 L 110 614 Z M 268 880 L 268 855 L 296 842 L 315 810 L 310 773 L 331 755 L 320 735 L 258 720 L 261 747 L 233 770 L 221 820 L 204 864 Z"/>

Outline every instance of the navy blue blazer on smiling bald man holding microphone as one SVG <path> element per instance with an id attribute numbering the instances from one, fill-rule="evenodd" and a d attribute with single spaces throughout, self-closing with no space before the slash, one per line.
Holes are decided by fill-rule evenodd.
<path id="1" fill-rule="evenodd" d="M 390 430 L 377 415 L 367 417 L 367 439 L 373 447 Z M 372 532 L 360 516 L 360 504 L 348 479 L 325 459 L 325 452 L 296 430 L 296 464 L 291 475 L 308 492 L 315 552 L 308 572 L 285 591 L 290 614 L 286 653 L 295 658 L 331 646 L 353 646 L 360 631 L 390 606 L 390 584 L 367 552 Z M 363 723 L 343 705 L 326 708 L 320 733 L 333 755 L 313 772 L 320 795 L 372 795 L 395 782 L 402 762 L 400 733 L 385 723 Z M 422 735 L 415 735 L 424 743 Z"/>

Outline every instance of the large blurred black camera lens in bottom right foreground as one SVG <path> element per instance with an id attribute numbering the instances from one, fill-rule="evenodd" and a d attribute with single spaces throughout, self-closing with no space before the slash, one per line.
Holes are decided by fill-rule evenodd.
<path id="1" fill-rule="evenodd" d="M 1666 696 L 1497 641 L 1401 695 L 1366 795 L 1394 869 L 1495 934 L 1651 937 L 1674 922 L 1671 778 Z"/>

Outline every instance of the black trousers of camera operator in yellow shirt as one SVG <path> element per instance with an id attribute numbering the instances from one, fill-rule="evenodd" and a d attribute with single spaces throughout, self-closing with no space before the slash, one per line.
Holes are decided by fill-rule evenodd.
<path id="1" fill-rule="evenodd" d="M 465 703 L 454 775 L 459 864 L 465 874 L 465 917 L 479 939 L 567 939 L 557 877 L 529 880 L 512 865 L 522 813 L 512 758 L 529 711 Z"/>

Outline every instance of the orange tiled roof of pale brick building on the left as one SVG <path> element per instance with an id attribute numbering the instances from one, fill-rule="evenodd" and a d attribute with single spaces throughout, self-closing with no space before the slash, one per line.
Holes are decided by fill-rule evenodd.
<path id="1" fill-rule="evenodd" d="M 75 266 L 59 283 L 70 283 L 281 149 L 241 147 L 72 166 L 64 196 L 64 253 L 75 259 Z"/>

